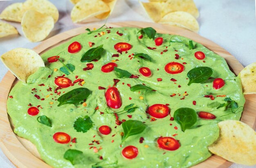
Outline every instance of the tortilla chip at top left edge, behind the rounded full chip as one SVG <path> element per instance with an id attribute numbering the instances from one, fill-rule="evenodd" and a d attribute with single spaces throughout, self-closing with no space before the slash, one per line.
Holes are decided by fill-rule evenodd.
<path id="1" fill-rule="evenodd" d="M 50 15 L 54 18 L 54 23 L 58 21 L 58 9 L 48 0 L 27 0 L 23 3 L 23 9 L 25 11 L 34 10 L 45 15 Z"/>

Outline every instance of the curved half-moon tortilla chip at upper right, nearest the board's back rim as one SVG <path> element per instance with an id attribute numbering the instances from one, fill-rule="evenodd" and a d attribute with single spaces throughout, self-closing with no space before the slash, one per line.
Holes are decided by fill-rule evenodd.
<path id="1" fill-rule="evenodd" d="M 198 32 L 199 30 L 199 24 L 195 17 L 190 13 L 183 11 L 168 13 L 159 21 L 159 23 L 186 28 L 194 32 Z"/>

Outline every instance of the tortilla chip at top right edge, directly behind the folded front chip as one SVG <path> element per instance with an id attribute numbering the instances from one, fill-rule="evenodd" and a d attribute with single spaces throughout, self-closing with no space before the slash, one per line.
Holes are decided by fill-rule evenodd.
<path id="1" fill-rule="evenodd" d="M 193 0 L 167 0 L 162 9 L 161 17 L 175 11 L 188 12 L 195 18 L 199 16 L 198 9 Z"/>

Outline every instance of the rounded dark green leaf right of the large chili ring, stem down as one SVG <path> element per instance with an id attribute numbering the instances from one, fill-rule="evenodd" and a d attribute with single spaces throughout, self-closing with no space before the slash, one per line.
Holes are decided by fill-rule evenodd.
<path id="1" fill-rule="evenodd" d="M 195 124 L 197 115 L 194 109 L 180 108 L 174 112 L 173 118 L 180 124 L 181 130 L 184 132 Z"/>

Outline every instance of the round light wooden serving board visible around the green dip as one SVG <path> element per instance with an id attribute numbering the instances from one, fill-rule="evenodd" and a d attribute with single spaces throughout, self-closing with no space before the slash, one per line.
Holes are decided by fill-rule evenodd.
<path id="1" fill-rule="evenodd" d="M 101 24 L 92 24 L 86 27 L 79 27 L 72 29 L 70 31 L 66 31 L 64 33 L 55 35 L 45 41 L 41 42 L 38 46 L 36 46 L 33 50 L 38 54 L 43 54 L 45 51 L 49 50 L 52 47 L 58 46 L 63 42 L 69 40 L 71 37 L 79 35 L 81 33 L 85 33 L 85 28 L 99 28 Z M 157 30 L 157 33 L 168 33 L 168 34 L 177 34 L 188 37 L 197 41 L 210 50 L 216 52 L 218 55 L 225 58 L 231 71 L 233 71 L 236 75 L 243 69 L 243 65 L 239 63 L 238 60 L 234 56 L 232 56 L 225 49 L 221 48 L 217 44 L 212 41 L 201 37 L 197 33 L 188 31 L 183 28 L 178 28 L 174 26 L 168 26 L 163 24 L 155 24 L 149 22 L 118 22 L 118 23 L 108 23 L 107 26 L 111 27 L 153 27 Z M 38 154 L 36 147 L 21 137 L 18 137 L 15 133 L 13 133 L 13 125 L 11 123 L 11 118 L 7 114 L 7 98 L 11 88 L 16 84 L 18 80 L 16 79 L 11 72 L 7 72 L 7 74 L 2 79 L 0 83 L 0 147 L 4 154 L 11 160 L 11 162 L 16 165 L 18 168 L 51 168 L 51 166 L 47 165 Z M 245 95 L 246 103 L 243 111 L 243 115 L 241 118 L 242 122 L 245 122 L 250 127 L 255 129 L 256 127 L 256 94 Z M 216 155 L 211 156 L 206 161 L 193 166 L 194 168 L 227 168 L 232 163 L 218 157 Z"/>

